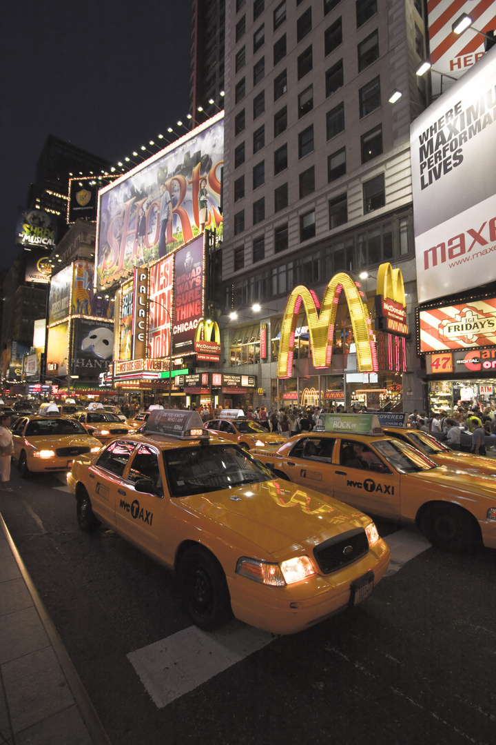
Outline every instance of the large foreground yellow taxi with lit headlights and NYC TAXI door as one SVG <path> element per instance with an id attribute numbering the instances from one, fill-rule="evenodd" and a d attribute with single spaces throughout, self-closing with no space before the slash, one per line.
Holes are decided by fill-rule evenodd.
<path id="1" fill-rule="evenodd" d="M 235 443 L 209 437 L 196 411 L 150 413 L 67 476 L 82 530 L 103 522 L 172 568 L 193 622 L 234 615 L 294 633 L 373 591 L 389 548 L 373 521 L 274 478 Z"/>

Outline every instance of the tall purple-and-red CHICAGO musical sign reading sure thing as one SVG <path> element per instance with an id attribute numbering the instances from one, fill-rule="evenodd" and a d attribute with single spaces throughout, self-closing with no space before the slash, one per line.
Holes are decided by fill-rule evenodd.
<path id="1" fill-rule="evenodd" d="M 173 352 L 194 352 L 196 327 L 203 317 L 204 236 L 174 254 Z"/>

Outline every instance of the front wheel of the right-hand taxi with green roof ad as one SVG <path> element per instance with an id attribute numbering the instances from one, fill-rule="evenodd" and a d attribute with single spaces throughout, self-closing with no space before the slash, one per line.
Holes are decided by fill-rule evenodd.
<path id="1" fill-rule="evenodd" d="M 431 505 L 422 516 L 426 538 L 450 554 L 469 554 L 480 545 L 480 528 L 470 513 L 456 504 Z"/>

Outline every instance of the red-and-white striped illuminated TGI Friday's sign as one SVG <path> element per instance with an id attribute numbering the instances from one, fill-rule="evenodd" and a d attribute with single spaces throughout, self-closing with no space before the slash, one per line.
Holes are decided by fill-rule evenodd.
<path id="1" fill-rule="evenodd" d="M 424 308 L 419 317 L 419 354 L 496 344 L 496 298 Z"/>

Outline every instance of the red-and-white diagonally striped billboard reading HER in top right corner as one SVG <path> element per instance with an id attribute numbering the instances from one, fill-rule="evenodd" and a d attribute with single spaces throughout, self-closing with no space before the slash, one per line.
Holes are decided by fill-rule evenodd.
<path id="1" fill-rule="evenodd" d="M 436 72 L 432 93 L 438 96 L 461 77 L 484 54 L 484 37 L 468 28 L 454 34 L 451 26 L 462 13 L 471 17 L 478 31 L 496 28 L 496 6 L 488 0 L 438 0 L 428 4 L 429 58 Z"/>

